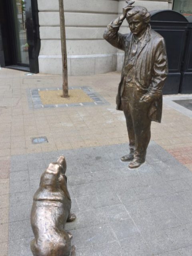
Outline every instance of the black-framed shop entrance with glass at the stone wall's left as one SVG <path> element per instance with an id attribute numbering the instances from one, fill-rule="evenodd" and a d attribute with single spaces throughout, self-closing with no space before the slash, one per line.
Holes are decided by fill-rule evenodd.
<path id="1" fill-rule="evenodd" d="M 37 0 L 0 0 L 0 66 L 38 73 Z"/>

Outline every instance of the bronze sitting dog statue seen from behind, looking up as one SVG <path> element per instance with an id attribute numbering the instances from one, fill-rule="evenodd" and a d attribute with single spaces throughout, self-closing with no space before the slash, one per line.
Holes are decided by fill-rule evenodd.
<path id="1" fill-rule="evenodd" d="M 75 256 L 72 235 L 64 230 L 65 223 L 75 220 L 70 213 L 71 198 L 67 189 L 66 160 L 60 156 L 42 174 L 40 187 L 34 194 L 31 241 L 34 256 Z"/>

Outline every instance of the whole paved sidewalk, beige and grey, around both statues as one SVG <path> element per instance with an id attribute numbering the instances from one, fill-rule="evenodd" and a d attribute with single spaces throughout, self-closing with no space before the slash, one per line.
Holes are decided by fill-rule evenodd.
<path id="1" fill-rule="evenodd" d="M 173 101 L 192 96 L 164 96 L 146 163 L 130 170 L 119 160 L 128 150 L 125 119 L 115 110 L 119 79 L 116 72 L 69 78 L 101 105 L 33 108 L 30 92 L 60 88 L 61 77 L 0 70 L 0 255 L 32 255 L 32 196 L 60 154 L 77 215 L 66 225 L 77 256 L 192 255 L 192 115 Z M 32 144 L 44 136 L 48 143 Z"/>

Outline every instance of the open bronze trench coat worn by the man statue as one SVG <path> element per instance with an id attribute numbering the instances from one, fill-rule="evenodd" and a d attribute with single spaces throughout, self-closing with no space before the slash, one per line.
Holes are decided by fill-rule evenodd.
<path id="1" fill-rule="evenodd" d="M 107 26 L 104 32 L 104 39 L 112 44 L 112 46 L 125 52 L 121 81 L 116 96 L 117 110 L 122 110 L 121 96 L 124 90 L 124 80 L 127 76 L 126 66 L 129 62 L 133 37 L 132 33 L 118 33 L 121 24 L 122 22 L 114 20 Z M 164 38 L 152 30 L 150 25 L 147 27 L 146 36 L 137 54 L 135 65 L 136 84 L 142 85 L 142 88 L 148 90 L 147 94 L 154 98 L 150 105 L 148 116 L 152 121 L 161 122 L 162 88 L 168 74 L 167 54 Z"/>

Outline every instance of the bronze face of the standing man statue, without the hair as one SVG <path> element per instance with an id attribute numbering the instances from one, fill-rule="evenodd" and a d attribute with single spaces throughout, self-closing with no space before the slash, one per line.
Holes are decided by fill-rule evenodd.
<path id="1" fill-rule="evenodd" d="M 140 37 L 146 30 L 146 24 L 143 22 L 142 17 L 138 13 L 128 18 L 128 24 L 134 36 Z"/>

